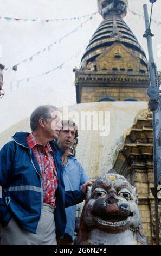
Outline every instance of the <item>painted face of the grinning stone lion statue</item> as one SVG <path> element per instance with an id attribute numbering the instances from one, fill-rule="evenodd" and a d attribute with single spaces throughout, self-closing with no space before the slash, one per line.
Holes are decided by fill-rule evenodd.
<path id="1" fill-rule="evenodd" d="M 123 176 L 107 173 L 89 189 L 83 220 L 91 228 L 137 231 L 141 225 L 137 203 L 137 189 Z"/>

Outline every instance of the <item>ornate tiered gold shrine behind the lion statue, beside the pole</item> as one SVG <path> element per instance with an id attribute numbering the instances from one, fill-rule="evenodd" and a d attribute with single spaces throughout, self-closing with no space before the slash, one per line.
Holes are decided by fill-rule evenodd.
<path id="1" fill-rule="evenodd" d="M 133 126 L 125 132 L 118 149 L 115 170 L 138 188 L 139 210 L 143 230 L 149 245 L 155 244 L 152 113 L 145 110 L 136 116 Z M 159 204 L 161 214 L 161 202 Z M 161 215 L 160 215 L 161 216 Z M 161 222 L 160 222 L 161 223 Z M 160 225 L 161 227 L 161 225 Z M 161 230 L 160 230 L 161 244 Z"/>

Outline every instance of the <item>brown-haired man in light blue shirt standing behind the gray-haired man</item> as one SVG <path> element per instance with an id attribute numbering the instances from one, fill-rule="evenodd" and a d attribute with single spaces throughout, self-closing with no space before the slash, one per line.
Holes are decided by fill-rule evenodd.
<path id="1" fill-rule="evenodd" d="M 62 156 L 64 170 L 65 190 L 79 190 L 82 185 L 89 180 L 85 169 L 80 162 L 70 153 L 70 147 L 74 139 L 78 137 L 78 127 L 72 121 L 62 121 L 62 130 L 58 136 L 58 144 L 65 152 Z M 59 245 L 71 245 L 74 241 L 76 205 L 66 208 L 67 224 L 65 237 L 59 240 Z"/>

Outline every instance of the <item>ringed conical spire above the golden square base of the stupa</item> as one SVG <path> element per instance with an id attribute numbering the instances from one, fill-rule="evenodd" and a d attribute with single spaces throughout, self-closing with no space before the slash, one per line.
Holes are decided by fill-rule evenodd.
<path id="1" fill-rule="evenodd" d="M 105 53 L 115 43 L 124 45 L 141 61 L 140 73 L 147 72 L 147 59 L 144 50 L 141 48 L 136 36 L 122 19 L 126 15 L 127 0 L 98 0 L 99 13 L 104 17 L 98 29 L 93 34 L 85 53 L 81 59 L 80 68 L 95 71 L 96 58 Z M 118 49 L 119 50 L 119 47 Z M 119 52 L 114 53 L 115 59 L 121 59 Z M 133 68 L 129 63 L 127 69 L 121 65 L 121 71 L 131 71 Z M 103 70 L 107 65 L 103 63 Z M 113 63 L 113 70 L 117 70 Z"/>

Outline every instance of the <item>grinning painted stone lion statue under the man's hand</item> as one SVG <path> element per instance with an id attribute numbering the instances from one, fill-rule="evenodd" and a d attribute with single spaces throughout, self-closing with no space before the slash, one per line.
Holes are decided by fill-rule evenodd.
<path id="1" fill-rule="evenodd" d="M 137 188 L 115 170 L 88 187 L 76 245 L 146 245 Z"/>

